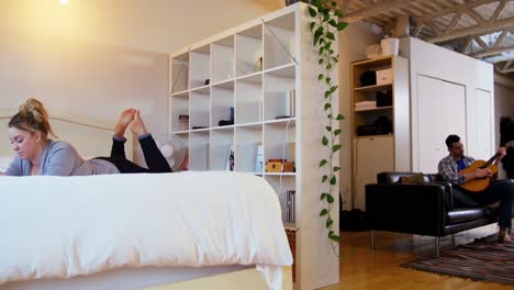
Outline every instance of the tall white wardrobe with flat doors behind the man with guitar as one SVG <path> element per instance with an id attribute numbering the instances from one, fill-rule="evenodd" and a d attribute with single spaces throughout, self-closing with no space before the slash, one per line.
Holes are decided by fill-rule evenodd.
<path id="1" fill-rule="evenodd" d="M 402 41 L 410 63 L 412 170 L 437 172 L 457 134 L 467 155 L 494 154 L 493 66 L 417 38 Z"/>

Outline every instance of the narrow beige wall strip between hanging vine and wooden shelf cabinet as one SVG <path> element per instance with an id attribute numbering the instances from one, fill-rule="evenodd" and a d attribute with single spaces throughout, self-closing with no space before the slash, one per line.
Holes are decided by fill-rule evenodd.
<path id="1" fill-rule="evenodd" d="M 340 143 L 343 148 L 339 153 L 342 168 L 339 190 L 343 199 L 343 210 L 351 209 L 350 64 L 367 58 L 366 48 L 371 44 L 379 43 L 381 36 L 381 30 L 368 22 L 351 23 L 339 34 L 339 111 L 346 118 L 342 122 Z"/>

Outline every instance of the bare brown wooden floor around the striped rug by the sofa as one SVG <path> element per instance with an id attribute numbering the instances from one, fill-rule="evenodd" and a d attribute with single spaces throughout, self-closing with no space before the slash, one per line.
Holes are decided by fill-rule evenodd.
<path id="1" fill-rule="evenodd" d="M 444 237 L 443 248 L 472 242 L 495 233 L 495 225 L 479 227 Z M 514 289 L 495 282 L 472 281 L 456 277 L 406 269 L 399 265 L 434 250 L 434 238 L 379 232 L 376 250 L 370 250 L 370 232 L 342 232 L 340 283 L 324 290 L 336 289 Z"/>

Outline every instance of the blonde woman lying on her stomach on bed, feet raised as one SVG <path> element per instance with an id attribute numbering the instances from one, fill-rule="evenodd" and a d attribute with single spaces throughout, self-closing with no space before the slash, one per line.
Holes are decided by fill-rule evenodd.
<path id="1" fill-rule="evenodd" d="M 131 124 L 132 123 L 132 124 Z M 125 130 L 131 125 L 143 149 L 148 168 L 141 167 L 125 157 Z M 122 112 L 114 126 L 110 157 L 85 160 L 69 143 L 53 141 L 48 113 L 43 103 L 29 99 L 9 121 L 9 140 L 16 156 L 4 174 L 8 176 L 85 176 L 136 172 L 171 172 L 166 158 L 146 131 L 139 111 Z"/>

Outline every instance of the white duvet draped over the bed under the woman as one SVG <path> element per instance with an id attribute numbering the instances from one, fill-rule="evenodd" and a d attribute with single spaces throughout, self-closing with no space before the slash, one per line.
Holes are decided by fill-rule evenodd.
<path id="1" fill-rule="evenodd" d="M 292 264 L 277 193 L 250 174 L 0 177 L 0 285 L 255 264 L 279 289 Z"/>

